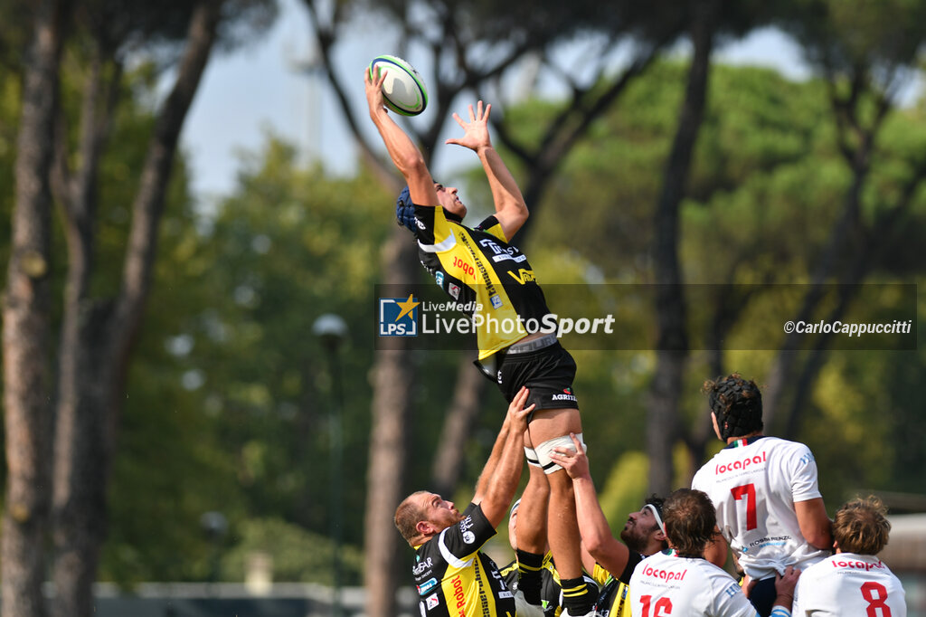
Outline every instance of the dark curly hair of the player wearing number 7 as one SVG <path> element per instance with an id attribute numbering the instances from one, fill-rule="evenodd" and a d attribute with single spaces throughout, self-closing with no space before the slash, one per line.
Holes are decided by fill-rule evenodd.
<path id="1" fill-rule="evenodd" d="M 720 438 L 742 437 L 764 428 L 762 393 L 756 382 L 743 379 L 738 372 L 704 383 L 710 410 L 717 416 Z"/>

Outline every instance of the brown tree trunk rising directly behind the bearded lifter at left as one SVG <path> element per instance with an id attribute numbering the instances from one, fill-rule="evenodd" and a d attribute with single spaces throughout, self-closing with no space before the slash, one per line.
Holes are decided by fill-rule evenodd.
<path id="1" fill-rule="evenodd" d="M 415 281 L 419 273 L 418 246 L 404 228 L 396 227 L 383 258 L 387 284 Z M 404 342 L 404 341 L 400 341 Z M 473 369 L 475 371 L 475 369 Z M 411 557 L 393 524 L 395 508 L 406 488 L 407 427 L 415 370 L 407 349 L 381 350 L 373 367 L 373 414 L 367 473 L 367 512 L 364 521 L 366 554 L 364 583 L 369 617 L 394 617 L 395 590 L 407 580 Z"/>

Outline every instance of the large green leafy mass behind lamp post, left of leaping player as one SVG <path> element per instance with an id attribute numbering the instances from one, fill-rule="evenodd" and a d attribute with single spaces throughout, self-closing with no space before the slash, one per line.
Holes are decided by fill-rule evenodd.
<path id="1" fill-rule="evenodd" d="M 201 304 L 177 333 L 191 343 L 182 362 L 203 377 L 197 389 L 206 412 L 221 420 L 220 438 L 251 511 L 320 531 L 329 473 L 319 473 L 319 461 L 329 458 L 329 418 L 341 395 L 311 327 L 334 312 L 350 329 L 339 359 L 343 478 L 360 483 L 369 430 L 367 324 L 387 229 L 382 204 L 391 199 L 368 178 L 331 181 L 321 170 L 295 169 L 292 148 L 276 141 L 240 183 L 238 195 L 203 221 L 198 244 L 184 247 Z M 362 495 L 346 497 L 348 526 L 358 529 Z"/>

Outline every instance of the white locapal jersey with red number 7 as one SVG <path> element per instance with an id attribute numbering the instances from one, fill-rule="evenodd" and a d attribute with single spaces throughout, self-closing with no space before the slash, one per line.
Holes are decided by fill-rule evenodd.
<path id="1" fill-rule="evenodd" d="M 807 544 L 797 523 L 795 502 L 820 497 L 817 463 L 804 444 L 737 439 L 694 474 L 692 488 L 714 502 L 720 533 L 755 580 L 789 565 L 803 570 L 829 554 Z"/>

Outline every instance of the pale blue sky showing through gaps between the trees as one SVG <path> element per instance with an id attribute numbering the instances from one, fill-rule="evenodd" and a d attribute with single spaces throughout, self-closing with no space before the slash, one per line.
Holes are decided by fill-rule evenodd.
<path id="1" fill-rule="evenodd" d="M 257 152 L 268 132 L 299 145 L 305 157 L 321 157 L 335 173 L 354 168 L 355 149 L 332 95 L 320 78 L 310 79 L 298 69 L 310 48 L 307 12 L 300 0 L 281 0 L 281 5 L 280 19 L 263 40 L 212 59 L 196 94 L 181 142 L 193 159 L 194 190 L 206 199 L 232 192 L 240 154 Z M 358 105 L 365 104 L 363 68 L 378 54 L 394 53 L 393 48 L 389 33 L 373 23 L 357 24 L 339 45 L 339 66 L 356 69 L 356 79 L 349 74 L 345 82 Z M 776 31 L 758 31 L 721 49 L 718 57 L 774 67 L 793 78 L 806 75 L 799 51 Z M 438 166 L 442 163 L 454 165 L 455 159 L 439 159 Z M 445 175 L 446 170 L 435 172 Z"/>

